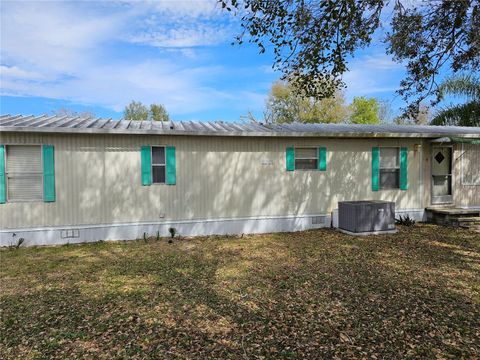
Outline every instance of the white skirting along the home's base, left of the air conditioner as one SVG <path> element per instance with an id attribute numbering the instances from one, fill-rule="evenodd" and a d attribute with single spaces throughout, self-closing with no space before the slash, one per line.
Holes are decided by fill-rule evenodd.
<path id="1" fill-rule="evenodd" d="M 82 226 L 62 226 L 36 229 L 8 229 L 0 231 L 0 246 L 12 246 L 23 238 L 23 246 L 62 245 L 99 240 L 135 240 L 156 236 L 169 236 L 169 228 L 180 236 L 226 234 L 259 234 L 291 232 L 331 226 L 329 214 L 237 218 L 218 220 L 162 221 L 157 223 L 123 223 Z"/>

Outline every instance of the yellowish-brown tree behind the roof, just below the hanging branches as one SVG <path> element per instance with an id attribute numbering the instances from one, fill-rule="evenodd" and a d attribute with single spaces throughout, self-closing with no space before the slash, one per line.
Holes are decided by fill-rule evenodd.
<path id="1" fill-rule="evenodd" d="M 266 101 L 265 118 L 276 123 L 339 123 L 347 117 L 347 110 L 341 91 L 316 100 L 295 92 L 291 83 L 277 81 Z"/>

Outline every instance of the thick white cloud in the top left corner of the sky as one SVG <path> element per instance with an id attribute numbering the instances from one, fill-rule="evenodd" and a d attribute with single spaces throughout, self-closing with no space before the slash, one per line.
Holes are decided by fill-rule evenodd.
<path id="1" fill-rule="evenodd" d="M 115 36 L 124 16 L 76 11 L 70 3 L 6 2 L 1 14 L 2 62 L 43 71 L 73 71 L 99 44 Z"/>

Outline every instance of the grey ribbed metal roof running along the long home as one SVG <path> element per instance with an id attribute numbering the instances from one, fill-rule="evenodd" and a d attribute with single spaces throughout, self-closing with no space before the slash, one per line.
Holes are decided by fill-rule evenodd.
<path id="1" fill-rule="evenodd" d="M 67 115 L 0 115 L 1 132 L 280 137 L 480 138 L 479 127 L 132 121 Z"/>

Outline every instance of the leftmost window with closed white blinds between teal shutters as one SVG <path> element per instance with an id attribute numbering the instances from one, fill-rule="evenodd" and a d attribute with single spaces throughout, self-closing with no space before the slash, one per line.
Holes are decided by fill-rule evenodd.
<path id="1" fill-rule="evenodd" d="M 42 200 L 41 146 L 8 145 L 5 173 L 7 177 L 7 201 Z"/>

